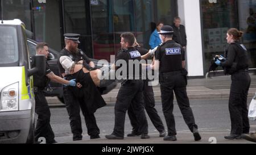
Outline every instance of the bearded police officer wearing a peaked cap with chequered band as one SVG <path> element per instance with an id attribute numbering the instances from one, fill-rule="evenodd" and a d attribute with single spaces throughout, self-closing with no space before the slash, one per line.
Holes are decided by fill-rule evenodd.
<path id="1" fill-rule="evenodd" d="M 79 34 L 76 33 L 65 33 L 65 48 L 60 51 L 60 56 L 68 56 L 73 61 L 78 62 L 80 60 L 85 60 L 85 67 L 88 70 L 91 70 L 95 67 L 94 63 L 90 61 L 88 56 L 85 55 L 80 49 L 78 49 L 79 41 Z M 58 61 L 59 63 L 60 61 Z M 65 73 L 65 69 L 59 63 L 59 71 L 61 76 L 67 76 Z M 76 89 L 79 89 L 78 87 Z M 79 91 L 79 90 L 77 90 Z M 72 89 L 69 87 L 63 87 L 63 95 L 64 95 L 64 102 L 65 106 L 68 111 L 71 131 L 73 133 L 73 140 L 82 140 L 82 124 L 81 124 L 81 117 L 80 117 L 80 107 L 82 110 L 82 114 L 85 118 L 85 123 L 88 131 L 88 135 L 90 135 L 90 139 L 98 139 L 100 138 L 100 129 L 97 126 L 96 118 L 93 112 L 88 111 L 84 104 L 86 103 L 85 100 L 78 99 L 72 93 Z"/>

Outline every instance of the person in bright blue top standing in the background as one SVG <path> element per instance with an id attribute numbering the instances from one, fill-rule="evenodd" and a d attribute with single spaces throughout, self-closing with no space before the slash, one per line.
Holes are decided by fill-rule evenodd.
<path id="1" fill-rule="evenodd" d="M 156 25 L 155 31 L 151 33 L 150 41 L 149 41 L 149 45 L 150 45 L 151 49 L 154 49 L 155 47 L 158 47 L 158 45 L 160 45 L 162 43 L 162 39 L 159 36 L 158 32 L 160 32 L 163 25 L 164 24 L 162 22 L 159 22 Z"/>

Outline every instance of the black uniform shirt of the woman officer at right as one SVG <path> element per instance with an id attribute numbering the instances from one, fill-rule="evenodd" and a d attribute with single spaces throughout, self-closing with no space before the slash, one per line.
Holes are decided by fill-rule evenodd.
<path id="1" fill-rule="evenodd" d="M 236 70 L 249 68 L 247 49 L 238 41 L 229 45 L 225 57 L 226 61 L 221 63 L 224 68 L 232 68 L 234 63 L 236 64 Z"/>

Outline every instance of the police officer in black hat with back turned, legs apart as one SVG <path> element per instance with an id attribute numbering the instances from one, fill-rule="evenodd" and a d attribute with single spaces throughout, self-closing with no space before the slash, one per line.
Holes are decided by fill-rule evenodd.
<path id="1" fill-rule="evenodd" d="M 192 109 L 187 97 L 187 71 L 185 68 L 185 52 L 180 44 L 172 40 L 174 29 L 171 26 L 163 26 L 160 35 L 163 44 L 155 53 L 154 68 L 159 68 L 159 82 L 163 104 L 163 113 L 168 127 L 168 136 L 163 140 L 176 141 L 174 110 L 174 93 L 177 104 L 183 115 L 185 123 L 193 133 L 195 141 L 201 140 Z"/>

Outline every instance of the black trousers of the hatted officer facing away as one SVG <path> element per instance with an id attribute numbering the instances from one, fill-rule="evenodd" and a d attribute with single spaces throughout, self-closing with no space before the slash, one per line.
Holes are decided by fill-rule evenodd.
<path id="1" fill-rule="evenodd" d="M 176 135 L 174 120 L 174 93 L 181 114 L 191 132 L 197 129 L 195 118 L 187 96 L 187 77 L 181 72 L 160 73 L 159 75 L 161 98 L 164 118 L 168 127 L 168 136 Z"/>

